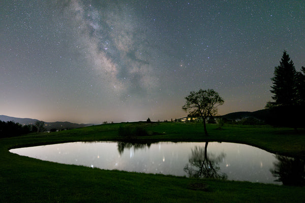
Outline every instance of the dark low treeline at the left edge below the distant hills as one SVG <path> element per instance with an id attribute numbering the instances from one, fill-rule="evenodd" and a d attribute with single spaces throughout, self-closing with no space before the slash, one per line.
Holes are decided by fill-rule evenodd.
<path id="1" fill-rule="evenodd" d="M 0 120 L 0 138 L 20 136 L 29 132 L 37 131 L 37 127 L 33 125 L 21 125 L 13 121 Z"/>

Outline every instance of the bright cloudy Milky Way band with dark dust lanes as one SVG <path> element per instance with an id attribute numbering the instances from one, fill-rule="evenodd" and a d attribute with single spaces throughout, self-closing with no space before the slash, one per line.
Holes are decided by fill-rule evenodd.
<path id="1" fill-rule="evenodd" d="M 156 86 L 154 52 L 145 38 L 147 28 L 133 19 L 127 5 L 107 5 L 100 10 L 91 4 L 72 2 L 67 8 L 74 16 L 77 48 L 83 57 L 120 94 L 140 94 Z M 124 96 L 124 95 L 122 95 Z"/>

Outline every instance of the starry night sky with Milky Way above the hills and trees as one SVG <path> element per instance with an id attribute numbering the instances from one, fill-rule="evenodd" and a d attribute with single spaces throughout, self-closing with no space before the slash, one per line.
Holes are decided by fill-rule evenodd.
<path id="1" fill-rule="evenodd" d="M 3 0 L 0 28 L 0 115 L 46 122 L 257 111 L 284 50 L 305 66 L 305 1 Z"/>

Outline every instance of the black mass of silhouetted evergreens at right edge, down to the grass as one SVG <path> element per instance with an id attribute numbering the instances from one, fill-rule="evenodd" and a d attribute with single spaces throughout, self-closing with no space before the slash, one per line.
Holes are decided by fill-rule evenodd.
<path id="1" fill-rule="evenodd" d="M 280 65 L 275 67 L 271 78 L 270 92 L 273 101 L 268 101 L 266 108 L 270 111 L 267 122 L 277 126 L 293 128 L 305 127 L 305 67 L 301 72 L 295 70 L 293 61 L 284 51 Z"/>

